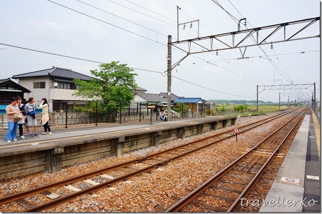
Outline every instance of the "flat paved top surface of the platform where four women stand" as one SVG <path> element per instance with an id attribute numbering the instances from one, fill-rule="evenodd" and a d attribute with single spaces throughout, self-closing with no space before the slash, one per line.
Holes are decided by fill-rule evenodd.
<path id="1" fill-rule="evenodd" d="M 55 128 L 51 127 L 52 135 L 41 135 L 43 132 L 43 127 L 37 127 L 38 137 L 29 137 L 28 132 L 23 130 L 24 139 L 19 138 L 19 134 L 17 133 L 16 142 L 6 143 L 5 142 L 5 133 L 0 134 L 0 156 L 1 153 L 5 152 L 7 148 L 10 148 L 11 151 L 14 148 L 18 147 L 21 151 L 23 148 L 27 147 L 42 147 L 44 144 L 49 144 L 51 142 L 64 144 L 68 143 L 73 139 L 86 139 L 91 136 L 99 136 L 99 135 L 110 135 L 110 136 L 121 136 L 124 134 L 138 132 L 141 130 L 158 130 L 163 129 L 164 127 L 176 127 L 177 125 L 182 124 L 197 124 L 203 123 L 209 120 L 213 120 L 213 118 L 217 118 L 217 120 L 223 120 L 227 117 L 199 117 L 195 118 L 182 118 L 175 119 L 171 121 L 159 121 L 152 120 L 150 122 L 140 122 L 140 123 L 110 123 L 106 125 L 83 125 L 83 126 L 67 126 L 67 128 Z M 33 131 L 31 132 L 33 134 Z"/>

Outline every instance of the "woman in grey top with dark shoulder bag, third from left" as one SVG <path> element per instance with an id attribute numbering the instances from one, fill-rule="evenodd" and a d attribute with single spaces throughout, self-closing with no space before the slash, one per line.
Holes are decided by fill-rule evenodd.
<path id="1" fill-rule="evenodd" d="M 29 97 L 28 103 L 24 106 L 25 112 L 27 112 L 27 122 L 28 122 L 28 132 L 29 137 L 38 137 L 37 134 L 37 119 L 36 119 L 36 113 L 35 109 L 38 109 L 38 106 L 36 104 L 36 101 L 33 99 L 33 97 Z M 33 126 L 34 134 L 31 134 L 31 126 Z"/>

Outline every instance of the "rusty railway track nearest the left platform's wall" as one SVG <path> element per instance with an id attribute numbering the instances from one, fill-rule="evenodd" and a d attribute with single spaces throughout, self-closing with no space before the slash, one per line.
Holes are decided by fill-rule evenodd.
<path id="1" fill-rule="evenodd" d="M 268 123 L 269 121 L 286 114 L 291 114 L 293 111 L 294 110 L 284 112 L 252 124 L 241 126 L 238 129 L 241 133 L 256 126 Z M 211 137 L 189 143 L 188 145 L 181 145 L 140 159 L 131 160 L 91 173 L 65 179 L 60 182 L 9 195 L 0 199 L 0 205 L 18 203 L 24 208 L 23 212 L 39 212 L 46 210 L 83 194 L 93 193 L 97 190 L 110 187 L 115 183 L 126 181 L 133 176 L 152 171 L 155 168 L 163 166 L 175 159 L 182 158 L 192 152 L 206 148 L 207 146 L 224 139 L 234 137 L 233 133 L 234 132 L 232 130 L 222 132 Z M 39 198 L 41 203 L 32 203 L 32 198 Z"/>

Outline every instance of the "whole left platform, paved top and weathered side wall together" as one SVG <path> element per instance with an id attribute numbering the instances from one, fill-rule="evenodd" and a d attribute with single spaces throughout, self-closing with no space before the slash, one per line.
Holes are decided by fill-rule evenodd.
<path id="1" fill-rule="evenodd" d="M 96 161 L 105 157 L 121 157 L 131 151 L 155 146 L 175 139 L 228 126 L 234 128 L 236 117 L 184 118 L 171 121 L 104 124 L 99 126 L 52 127 L 52 135 L 25 136 L 6 143 L 0 135 L 0 180 L 35 172 L 55 173 L 63 167 Z M 26 133 L 26 132 L 24 132 Z"/>

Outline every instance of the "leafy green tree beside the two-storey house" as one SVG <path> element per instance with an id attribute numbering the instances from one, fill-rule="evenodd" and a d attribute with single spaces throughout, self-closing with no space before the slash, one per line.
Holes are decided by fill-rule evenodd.
<path id="1" fill-rule="evenodd" d="M 113 122 L 121 103 L 122 111 L 134 99 L 131 89 L 136 90 L 134 77 L 136 73 L 131 73 L 133 69 L 126 67 L 127 64 L 118 64 L 112 61 L 107 64 L 98 65 L 99 70 L 90 70 L 95 78 L 89 81 L 74 79 L 74 84 L 79 85 L 78 91 L 72 96 L 78 96 L 87 101 L 103 102 L 102 109 L 105 113 L 109 112 L 109 121 Z"/>

